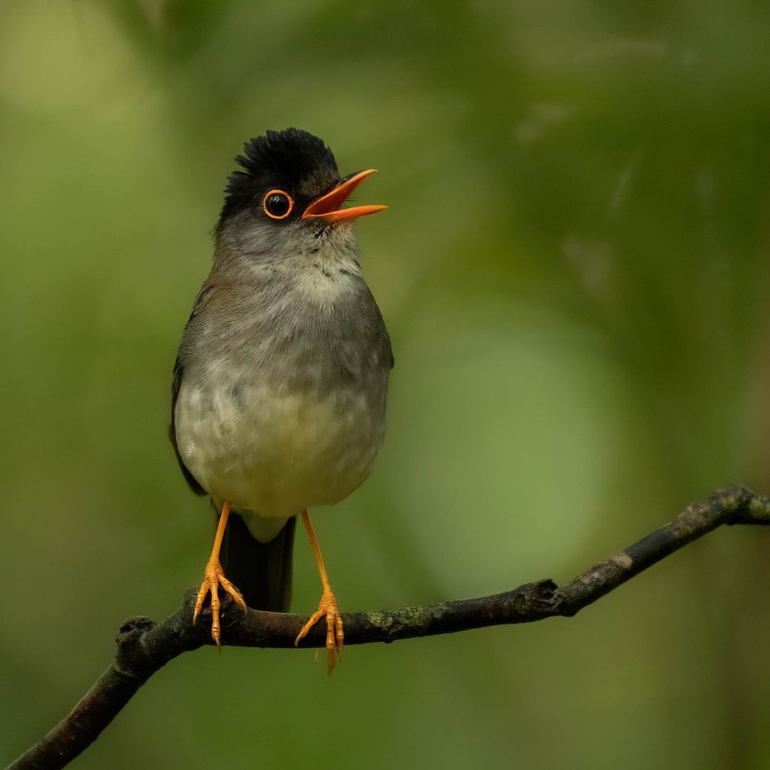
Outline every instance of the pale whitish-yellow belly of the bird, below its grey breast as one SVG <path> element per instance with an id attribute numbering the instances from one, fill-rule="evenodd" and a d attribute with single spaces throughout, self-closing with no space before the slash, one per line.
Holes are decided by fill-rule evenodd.
<path id="1" fill-rule="evenodd" d="M 369 474 L 383 432 L 384 403 L 355 386 L 321 395 L 249 384 L 233 397 L 182 385 L 176 401 L 186 467 L 215 501 L 260 518 L 343 500 Z M 280 527 L 265 524 L 269 539 Z"/>

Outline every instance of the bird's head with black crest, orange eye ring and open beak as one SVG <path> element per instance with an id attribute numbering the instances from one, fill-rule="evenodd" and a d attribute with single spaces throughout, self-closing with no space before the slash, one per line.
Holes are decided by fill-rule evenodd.
<path id="1" fill-rule="evenodd" d="M 300 129 L 249 139 L 228 180 L 218 239 L 246 253 L 319 251 L 319 241 L 353 243 L 350 223 L 386 206 L 343 204 L 375 169 L 340 177 L 331 149 Z"/>

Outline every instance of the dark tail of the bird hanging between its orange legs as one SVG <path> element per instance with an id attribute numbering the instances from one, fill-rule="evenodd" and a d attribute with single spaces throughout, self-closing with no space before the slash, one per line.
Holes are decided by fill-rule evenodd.
<path id="1" fill-rule="evenodd" d="M 225 577 L 236 584 L 255 610 L 287 612 L 291 601 L 291 565 L 296 517 L 269 543 L 260 543 L 238 514 L 230 514 L 220 561 Z"/>

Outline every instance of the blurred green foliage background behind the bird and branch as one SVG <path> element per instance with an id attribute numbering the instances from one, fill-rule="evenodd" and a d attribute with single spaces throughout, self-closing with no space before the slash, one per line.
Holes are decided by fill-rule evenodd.
<path id="1" fill-rule="evenodd" d="M 120 621 L 199 581 L 166 439 L 233 156 L 374 166 L 387 440 L 316 516 L 344 610 L 570 579 L 722 484 L 770 491 L 770 7 L 0 5 L 0 761 Z M 363 189 L 362 189 L 363 190 Z M 80 768 L 767 768 L 770 532 L 718 531 L 572 620 L 206 648 Z M 293 608 L 318 581 L 296 544 Z"/>

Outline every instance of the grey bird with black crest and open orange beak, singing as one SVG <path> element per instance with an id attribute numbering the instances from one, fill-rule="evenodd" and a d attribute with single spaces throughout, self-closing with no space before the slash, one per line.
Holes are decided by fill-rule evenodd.
<path id="1" fill-rule="evenodd" d="M 353 222 L 387 206 L 343 204 L 376 169 L 340 176 L 323 139 L 296 128 L 249 139 L 227 180 L 213 263 L 173 367 L 169 437 L 216 534 L 196 598 L 289 608 L 303 521 L 320 574 L 331 674 L 343 650 L 336 596 L 310 518 L 367 478 L 383 444 L 390 336 L 363 276 Z"/>

